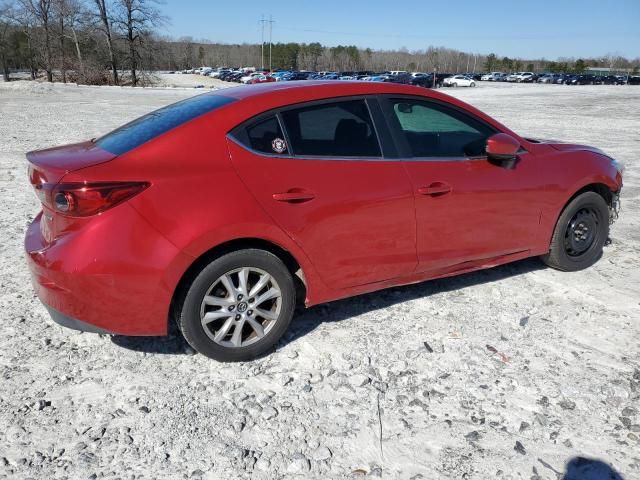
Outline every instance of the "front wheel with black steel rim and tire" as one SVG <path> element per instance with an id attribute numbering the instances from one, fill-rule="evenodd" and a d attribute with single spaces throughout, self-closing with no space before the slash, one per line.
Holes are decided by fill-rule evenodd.
<path id="1" fill-rule="evenodd" d="M 609 237 L 609 207 L 595 192 L 585 192 L 565 207 L 551 237 L 549 253 L 540 257 L 557 270 L 575 272 L 602 256 Z"/>

